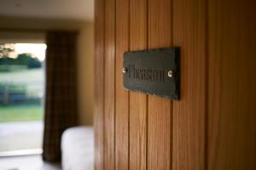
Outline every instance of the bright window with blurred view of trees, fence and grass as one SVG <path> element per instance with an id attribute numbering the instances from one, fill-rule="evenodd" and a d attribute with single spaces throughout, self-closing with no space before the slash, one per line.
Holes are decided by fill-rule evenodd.
<path id="1" fill-rule="evenodd" d="M 41 151 L 44 43 L 0 44 L 0 156 Z"/>

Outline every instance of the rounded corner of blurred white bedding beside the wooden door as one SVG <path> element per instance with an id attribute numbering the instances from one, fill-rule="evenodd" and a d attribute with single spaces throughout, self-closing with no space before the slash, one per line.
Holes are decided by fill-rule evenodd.
<path id="1" fill-rule="evenodd" d="M 68 128 L 61 137 L 61 156 L 63 170 L 93 170 L 93 128 Z"/>

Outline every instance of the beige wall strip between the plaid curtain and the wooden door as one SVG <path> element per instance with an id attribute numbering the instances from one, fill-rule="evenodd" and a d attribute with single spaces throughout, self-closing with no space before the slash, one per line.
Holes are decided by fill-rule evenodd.
<path id="1" fill-rule="evenodd" d="M 87 23 L 79 33 L 79 122 L 92 125 L 94 109 L 94 24 Z"/>

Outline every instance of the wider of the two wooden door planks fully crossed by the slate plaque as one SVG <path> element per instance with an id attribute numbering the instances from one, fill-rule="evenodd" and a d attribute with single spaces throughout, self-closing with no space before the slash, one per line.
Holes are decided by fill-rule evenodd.
<path id="1" fill-rule="evenodd" d="M 148 48 L 172 45 L 172 0 L 148 1 Z M 148 96 L 148 169 L 171 169 L 172 102 Z"/>

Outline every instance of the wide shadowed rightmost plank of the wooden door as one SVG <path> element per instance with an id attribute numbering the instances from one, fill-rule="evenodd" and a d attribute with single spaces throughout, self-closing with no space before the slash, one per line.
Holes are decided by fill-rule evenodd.
<path id="1" fill-rule="evenodd" d="M 209 0 L 209 170 L 256 169 L 255 7 Z"/>

